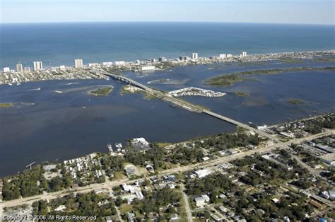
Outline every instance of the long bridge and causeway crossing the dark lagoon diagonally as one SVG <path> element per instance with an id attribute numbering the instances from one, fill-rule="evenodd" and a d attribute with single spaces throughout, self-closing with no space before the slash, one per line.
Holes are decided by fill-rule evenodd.
<path id="1" fill-rule="evenodd" d="M 210 110 L 207 110 L 204 107 L 201 107 L 199 105 L 195 105 L 193 103 L 189 103 L 186 100 L 182 100 L 181 98 L 175 98 L 172 95 L 169 95 L 167 93 L 164 93 L 163 91 L 156 90 L 154 88 L 150 88 L 148 86 L 145 86 L 142 83 L 134 81 L 133 79 L 128 78 L 126 76 L 119 76 L 119 75 L 111 74 L 111 73 L 109 73 L 107 71 L 98 70 L 98 69 L 91 69 L 91 71 L 93 73 L 95 73 L 95 74 L 103 74 L 103 75 L 108 76 L 110 78 L 113 78 L 113 79 L 115 79 L 117 81 L 121 81 L 123 83 L 127 83 L 127 84 L 130 84 L 132 86 L 136 86 L 138 88 L 146 90 L 147 93 L 150 93 L 151 95 L 155 95 L 156 97 L 161 98 L 162 100 L 165 100 L 167 102 L 173 103 L 173 104 L 175 104 L 175 105 L 177 105 L 179 107 L 182 107 L 182 108 L 184 108 L 186 110 L 189 110 L 189 111 L 192 111 L 192 112 L 202 112 L 202 113 L 204 113 L 206 115 L 210 115 L 211 117 L 216 117 L 216 118 L 221 119 L 221 120 L 223 120 L 225 122 L 229 122 L 230 124 L 234 124 L 237 127 L 242 127 L 242 128 L 247 129 L 249 131 L 256 132 L 257 134 L 259 134 L 261 136 L 265 136 L 265 137 L 271 139 L 271 141 L 278 142 L 278 139 L 276 139 L 274 136 L 271 136 L 270 134 L 266 134 L 265 132 L 262 132 L 259 129 L 255 129 L 253 127 L 250 127 L 248 124 L 244 124 L 242 122 L 238 122 L 235 119 L 231 119 L 229 117 L 225 117 L 223 115 L 220 115 L 220 114 L 218 114 L 216 112 L 212 112 Z"/>

